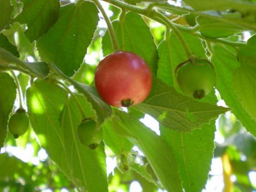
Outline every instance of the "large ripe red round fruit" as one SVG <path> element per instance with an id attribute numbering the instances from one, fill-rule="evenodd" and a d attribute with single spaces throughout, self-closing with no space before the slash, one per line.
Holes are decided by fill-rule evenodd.
<path id="1" fill-rule="evenodd" d="M 109 54 L 95 71 L 95 86 L 100 97 L 115 107 L 142 102 L 152 86 L 152 73 L 140 56 L 126 51 Z"/>

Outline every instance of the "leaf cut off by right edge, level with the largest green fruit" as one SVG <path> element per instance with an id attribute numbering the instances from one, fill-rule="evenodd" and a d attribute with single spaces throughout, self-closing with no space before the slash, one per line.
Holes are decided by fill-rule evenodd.
<path id="1" fill-rule="evenodd" d="M 236 68 L 233 83 L 239 101 L 253 120 L 256 120 L 256 67 L 242 65 Z"/>

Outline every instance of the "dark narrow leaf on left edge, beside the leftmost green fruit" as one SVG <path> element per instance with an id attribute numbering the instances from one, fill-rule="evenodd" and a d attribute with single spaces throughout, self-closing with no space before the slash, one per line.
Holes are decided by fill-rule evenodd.
<path id="1" fill-rule="evenodd" d="M 12 77 L 0 73 L 0 149 L 3 147 L 7 132 L 7 122 L 16 99 L 16 84 Z"/>

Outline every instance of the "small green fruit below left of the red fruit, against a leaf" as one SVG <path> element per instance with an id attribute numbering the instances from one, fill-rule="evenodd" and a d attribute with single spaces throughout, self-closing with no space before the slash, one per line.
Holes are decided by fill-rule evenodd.
<path id="1" fill-rule="evenodd" d="M 85 119 L 77 128 L 78 138 L 83 143 L 92 149 L 98 147 L 102 141 L 102 130 L 96 129 L 96 122 L 92 119 Z"/>

